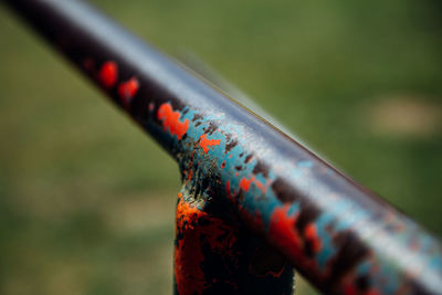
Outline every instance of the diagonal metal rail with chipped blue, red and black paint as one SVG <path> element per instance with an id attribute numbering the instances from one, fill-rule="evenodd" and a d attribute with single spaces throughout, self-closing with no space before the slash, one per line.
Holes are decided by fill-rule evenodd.
<path id="1" fill-rule="evenodd" d="M 440 242 L 308 149 L 81 1 L 10 3 L 319 289 L 442 292 Z"/>

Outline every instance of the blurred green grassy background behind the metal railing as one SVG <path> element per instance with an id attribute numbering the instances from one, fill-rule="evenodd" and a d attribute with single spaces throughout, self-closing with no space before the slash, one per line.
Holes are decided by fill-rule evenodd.
<path id="1" fill-rule="evenodd" d="M 442 236 L 441 1 L 93 2 Z M 3 7 L 0 36 L 0 293 L 170 294 L 176 165 Z"/>

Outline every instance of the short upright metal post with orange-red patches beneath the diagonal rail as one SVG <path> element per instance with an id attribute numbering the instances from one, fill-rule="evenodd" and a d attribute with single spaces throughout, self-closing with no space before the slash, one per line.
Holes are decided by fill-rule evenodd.
<path id="1" fill-rule="evenodd" d="M 292 294 L 287 260 L 246 229 L 230 202 L 186 182 L 177 203 L 175 293 Z"/>

